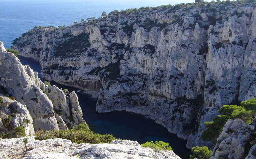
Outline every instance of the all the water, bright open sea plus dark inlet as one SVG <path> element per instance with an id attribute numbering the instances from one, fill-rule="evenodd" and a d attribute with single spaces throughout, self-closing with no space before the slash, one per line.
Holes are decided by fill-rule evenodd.
<path id="1" fill-rule="evenodd" d="M 12 41 L 35 26 L 71 25 L 76 20 L 100 17 L 113 10 L 159 6 L 192 2 L 191 0 L 0 0 L 0 41 L 5 48 L 11 48 Z M 41 66 L 31 59 L 18 57 L 23 65 L 29 65 L 39 72 Z M 52 82 L 62 89 L 76 91 L 72 87 Z M 183 159 L 189 158 L 190 150 L 186 141 L 171 134 L 168 130 L 140 114 L 125 111 L 109 113 L 96 112 L 96 101 L 90 96 L 76 92 L 83 111 L 83 118 L 95 133 L 113 134 L 116 138 L 136 140 L 140 144 L 146 141 L 165 141 L 173 151 Z"/>

